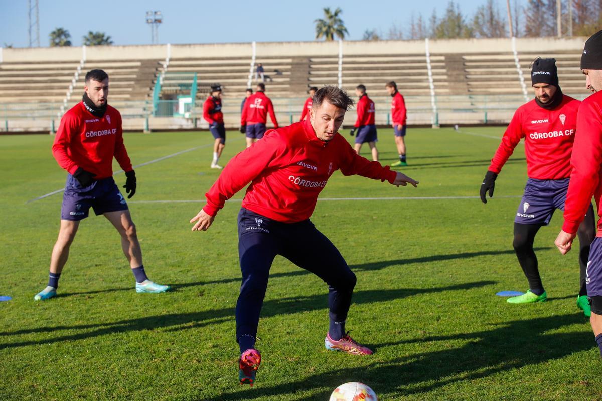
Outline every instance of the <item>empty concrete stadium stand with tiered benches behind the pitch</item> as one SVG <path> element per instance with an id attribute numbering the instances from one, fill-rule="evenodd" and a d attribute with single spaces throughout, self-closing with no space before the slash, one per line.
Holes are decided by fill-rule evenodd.
<path id="1" fill-rule="evenodd" d="M 384 84 L 391 80 L 406 98 L 409 124 L 507 123 L 514 109 L 532 96 L 529 65 L 536 56 L 556 57 L 565 93 L 578 98 L 588 94 L 579 70 L 584 40 L 493 38 L 1 49 L 0 121 L 4 124 L 0 130 L 52 130 L 61 112 L 79 99 L 83 75 L 93 68 L 102 68 L 110 75 L 110 103 L 122 112 L 127 129 L 205 127 L 200 115 L 202 102 L 213 82 L 224 88 L 226 125 L 236 127 L 244 89 L 256 84 L 257 63 L 264 65 L 266 93 L 281 124 L 299 118 L 309 86 L 341 85 L 354 94 L 358 84 L 366 85 L 376 103 L 377 123 L 388 124 L 390 98 Z M 194 102 L 186 99 L 191 96 Z"/>

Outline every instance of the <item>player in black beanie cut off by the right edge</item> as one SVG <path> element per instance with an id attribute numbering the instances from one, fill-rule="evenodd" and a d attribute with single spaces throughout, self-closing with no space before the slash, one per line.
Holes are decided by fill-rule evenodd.
<path id="1" fill-rule="evenodd" d="M 554 242 L 562 254 L 571 250 L 586 210 L 586 218 L 591 215 L 588 207 L 592 196 L 598 206 L 598 216 L 602 216 L 602 31 L 585 42 L 581 70 L 586 77 L 586 87 L 595 93 L 583 100 L 577 114 L 564 224 Z M 586 283 L 592 311 L 589 322 L 602 355 L 602 218 L 598 219 L 598 233 L 592 242 L 587 266 Z"/>

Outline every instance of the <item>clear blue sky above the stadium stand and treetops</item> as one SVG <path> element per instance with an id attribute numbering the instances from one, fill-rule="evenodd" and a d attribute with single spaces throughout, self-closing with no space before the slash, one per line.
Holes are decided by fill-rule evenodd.
<path id="1" fill-rule="evenodd" d="M 457 1 L 456 1 L 457 2 Z M 497 0 L 500 11 L 506 2 Z M 461 10 L 472 14 L 485 0 L 465 0 Z M 406 26 L 412 12 L 439 16 L 448 0 L 345 0 L 337 2 L 240 1 L 240 0 L 39 0 L 40 44 L 48 46 L 48 34 L 61 26 L 71 34 L 73 46 L 81 46 L 88 31 L 110 35 L 115 44 L 151 43 L 147 10 L 161 10 L 160 43 L 216 43 L 237 41 L 293 41 L 314 39 L 314 19 L 323 7 L 343 9 L 349 39 L 359 40 L 365 29 L 386 35 L 395 23 Z M 262 5 L 260 7 L 259 5 Z M 505 14 L 503 14 L 505 15 Z M 0 46 L 28 46 L 27 0 L 0 0 Z"/>

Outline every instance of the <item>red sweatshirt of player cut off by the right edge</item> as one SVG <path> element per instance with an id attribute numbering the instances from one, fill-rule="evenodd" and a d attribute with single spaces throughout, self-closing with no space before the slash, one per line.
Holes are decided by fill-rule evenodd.
<path id="1" fill-rule="evenodd" d="M 562 230 L 576 233 L 592 196 L 598 206 L 598 216 L 602 216 L 602 92 L 592 94 L 581 103 L 571 167 Z M 596 235 L 602 237 L 602 218 L 598 219 Z"/>

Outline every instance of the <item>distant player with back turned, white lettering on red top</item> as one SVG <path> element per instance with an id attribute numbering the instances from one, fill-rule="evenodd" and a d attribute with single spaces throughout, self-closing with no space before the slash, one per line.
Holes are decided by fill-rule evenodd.
<path id="1" fill-rule="evenodd" d="M 240 132 L 246 133 L 247 147 L 263 138 L 268 113 L 274 128 L 278 128 L 272 100 L 265 96 L 265 84 L 259 82 L 255 94 L 249 96 L 244 102 L 243 114 L 240 116 Z"/>

